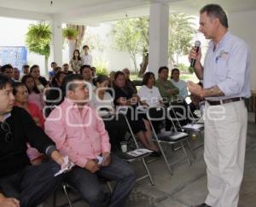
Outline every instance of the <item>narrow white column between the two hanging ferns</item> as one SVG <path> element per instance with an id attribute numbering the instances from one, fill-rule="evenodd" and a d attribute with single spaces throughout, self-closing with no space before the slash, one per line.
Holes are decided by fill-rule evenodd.
<path id="1" fill-rule="evenodd" d="M 57 63 L 58 66 L 62 66 L 62 23 L 60 20 L 54 20 L 52 24 L 52 46 L 53 46 L 53 61 Z"/>

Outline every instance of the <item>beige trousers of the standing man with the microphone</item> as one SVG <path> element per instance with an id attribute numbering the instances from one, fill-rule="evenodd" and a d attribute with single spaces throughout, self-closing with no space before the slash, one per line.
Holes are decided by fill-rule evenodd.
<path id="1" fill-rule="evenodd" d="M 244 101 L 205 107 L 208 195 L 212 207 L 236 207 L 243 177 L 247 137 Z"/>

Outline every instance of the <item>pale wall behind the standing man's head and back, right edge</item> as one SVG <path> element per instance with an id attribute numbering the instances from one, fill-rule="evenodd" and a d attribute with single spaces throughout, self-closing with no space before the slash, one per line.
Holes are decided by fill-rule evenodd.
<path id="1" fill-rule="evenodd" d="M 228 15 L 230 32 L 243 38 L 252 50 L 251 89 L 256 89 L 256 10 Z"/>

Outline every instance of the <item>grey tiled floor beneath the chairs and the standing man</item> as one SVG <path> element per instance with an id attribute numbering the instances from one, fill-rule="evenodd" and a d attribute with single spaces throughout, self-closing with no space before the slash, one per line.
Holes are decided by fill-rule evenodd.
<path id="1" fill-rule="evenodd" d="M 249 116 L 247 131 L 247 152 L 244 179 L 241 186 L 239 207 L 256 206 L 256 124 L 253 123 L 253 115 Z M 201 141 L 192 141 L 197 145 Z M 206 165 L 203 160 L 203 147 L 195 151 L 196 159 L 191 166 L 184 160 L 172 166 L 174 175 L 166 170 L 162 158 L 148 164 L 154 177 L 155 186 L 152 187 L 145 179 L 139 181 L 134 187 L 126 207 L 187 207 L 191 204 L 200 204 L 207 196 Z M 181 158 L 183 152 L 168 150 L 168 157 L 172 160 Z M 143 173 L 141 163 L 133 164 L 138 175 Z M 72 193 L 71 193 L 72 194 Z M 58 203 L 66 202 L 66 198 L 58 193 Z M 49 198 L 44 207 L 52 206 L 52 198 Z M 74 207 L 88 206 L 84 202 L 74 204 Z"/>

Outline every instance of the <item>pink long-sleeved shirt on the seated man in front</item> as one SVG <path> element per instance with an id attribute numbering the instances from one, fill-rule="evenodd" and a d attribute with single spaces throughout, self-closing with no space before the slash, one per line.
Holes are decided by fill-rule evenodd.
<path id="1" fill-rule="evenodd" d="M 88 159 L 102 152 L 110 152 L 108 132 L 102 118 L 91 106 L 84 106 L 82 114 L 76 104 L 66 98 L 46 119 L 44 130 L 55 141 L 61 154 L 84 168 Z"/>

